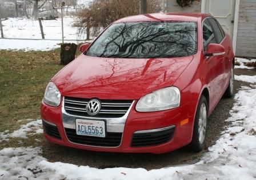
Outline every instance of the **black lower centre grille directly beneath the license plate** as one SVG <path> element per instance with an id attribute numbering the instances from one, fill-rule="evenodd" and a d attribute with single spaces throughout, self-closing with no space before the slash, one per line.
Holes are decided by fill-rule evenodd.
<path id="1" fill-rule="evenodd" d="M 77 135 L 75 129 L 65 128 L 67 138 L 70 142 L 81 145 L 117 147 L 121 143 L 122 133 L 107 133 L 105 138 Z"/>

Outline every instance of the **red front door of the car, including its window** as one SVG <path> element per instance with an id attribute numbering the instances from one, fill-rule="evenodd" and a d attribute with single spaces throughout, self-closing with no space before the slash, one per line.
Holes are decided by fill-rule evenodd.
<path id="1" fill-rule="evenodd" d="M 203 53 L 206 53 L 207 46 L 210 43 L 219 43 L 219 39 L 215 36 L 215 32 L 213 27 L 209 22 L 210 18 L 206 18 L 203 21 L 202 29 L 203 29 Z M 223 73 L 225 73 L 225 65 L 223 55 L 217 56 L 205 56 L 207 76 L 210 77 L 208 79 L 208 88 L 210 95 L 210 105 L 209 110 L 213 110 L 215 105 L 219 102 L 219 99 L 223 94 L 223 86 L 225 85 Z"/>

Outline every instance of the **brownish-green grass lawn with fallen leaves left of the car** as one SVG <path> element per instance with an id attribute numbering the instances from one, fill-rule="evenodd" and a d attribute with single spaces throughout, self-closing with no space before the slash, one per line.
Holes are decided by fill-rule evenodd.
<path id="1" fill-rule="evenodd" d="M 62 69 L 59 50 L 0 51 L 0 132 L 18 129 L 19 119 L 40 118 L 47 83 Z"/>

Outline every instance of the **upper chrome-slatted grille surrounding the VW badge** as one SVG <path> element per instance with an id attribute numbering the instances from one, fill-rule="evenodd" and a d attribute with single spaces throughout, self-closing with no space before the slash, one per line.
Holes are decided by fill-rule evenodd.
<path id="1" fill-rule="evenodd" d="M 64 107 L 67 113 L 84 117 L 119 118 L 126 114 L 133 101 L 100 100 L 101 110 L 96 115 L 86 113 L 86 105 L 91 99 L 65 97 Z"/>

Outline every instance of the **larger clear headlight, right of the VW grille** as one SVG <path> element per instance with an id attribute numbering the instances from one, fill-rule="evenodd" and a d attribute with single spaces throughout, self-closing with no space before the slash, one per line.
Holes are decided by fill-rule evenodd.
<path id="1" fill-rule="evenodd" d="M 162 111 L 179 106 L 181 94 L 177 87 L 166 87 L 139 99 L 136 110 L 140 112 Z"/>

